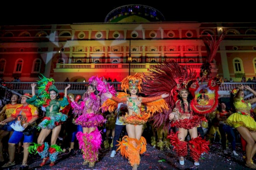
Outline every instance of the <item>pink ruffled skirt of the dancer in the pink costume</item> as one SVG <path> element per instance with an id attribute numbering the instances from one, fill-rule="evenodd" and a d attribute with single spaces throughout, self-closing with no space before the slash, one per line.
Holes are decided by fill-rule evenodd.
<path id="1" fill-rule="evenodd" d="M 101 114 L 88 113 L 79 116 L 75 123 L 82 127 L 98 127 L 102 126 L 106 122 L 106 119 Z"/>

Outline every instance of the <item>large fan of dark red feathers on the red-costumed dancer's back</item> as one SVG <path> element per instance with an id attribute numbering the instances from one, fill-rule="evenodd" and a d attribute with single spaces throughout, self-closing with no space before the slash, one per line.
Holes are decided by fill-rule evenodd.
<path id="1" fill-rule="evenodd" d="M 175 61 L 166 61 L 149 69 L 148 74 L 144 75 L 143 92 L 151 97 L 167 93 L 170 96 L 165 98 L 170 109 L 175 106 L 173 94 L 177 84 L 185 80 L 194 79 L 196 72 L 179 65 Z"/>

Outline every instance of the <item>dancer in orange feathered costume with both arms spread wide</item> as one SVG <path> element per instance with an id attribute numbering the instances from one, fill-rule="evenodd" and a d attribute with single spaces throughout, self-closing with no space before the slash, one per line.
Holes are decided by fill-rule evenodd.
<path id="1" fill-rule="evenodd" d="M 147 122 L 150 114 L 156 111 L 162 111 L 167 109 L 167 104 L 163 98 L 169 96 L 168 94 L 162 94 L 156 97 L 139 97 L 138 93 L 142 90 L 142 76 L 135 74 L 134 76 L 127 76 L 121 82 L 122 90 L 125 92 L 129 90 L 131 95 L 126 93 L 119 93 L 117 97 L 108 94 L 109 97 L 102 106 L 104 109 L 113 111 L 117 106 L 117 103 L 126 103 L 128 106 L 128 114 L 122 120 L 126 123 L 126 130 L 128 136 L 124 136 L 123 140 L 119 142 L 120 153 L 128 158 L 132 169 L 137 169 L 140 164 L 140 154 L 146 152 L 146 139 L 142 137 L 143 124 Z M 145 104 L 147 107 L 146 112 L 141 112 L 141 105 Z"/>

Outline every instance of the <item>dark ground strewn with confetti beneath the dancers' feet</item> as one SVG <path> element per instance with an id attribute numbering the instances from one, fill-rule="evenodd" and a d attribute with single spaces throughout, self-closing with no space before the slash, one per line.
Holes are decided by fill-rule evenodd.
<path id="1" fill-rule="evenodd" d="M 102 145 L 103 148 L 103 145 Z M 214 143 L 210 146 L 210 152 L 204 154 L 199 160 L 200 165 L 194 166 L 194 161 L 189 157 L 189 154 L 185 157 L 185 165 L 179 164 L 179 158 L 171 150 L 163 150 L 153 148 L 150 144 L 147 145 L 147 151 L 141 155 L 141 162 L 138 170 L 152 169 L 198 169 L 198 170 L 215 170 L 215 169 L 246 169 L 244 166 L 243 155 L 240 145 L 236 145 L 236 150 L 239 156 L 233 156 L 231 154 L 231 146 L 228 151 L 228 155 L 224 155 L 221 144 Z M 76 151 L 76 155 L 69 155 L 67 152 L 58 155 L 56 165 L 50 167 L 50 162 L 47 161 L 46 165 L 39 167 L 42 160 L 39 155 L 30 154 L 28 158 L 29 169 L 99 169 L 99 170 L 129 170 L 132 167 L 129 165 L 128 160 L 123 158 L 119 152 L 114 158 L 110 158 L 111 148 L 101 149 L 99 153 L 99 161 L 95 164 L 95 167 L 89 168 L 88 165 L 82 165 L 83 157 L 79 151 Z M 16 166 L 8 167 L 10 169 L 19 169 L 22 163 L 23 154 L 16 156 Z M 254 159 L 255 161 L 255 159 Z M 256 162 L 256 161 L 255 161 Z"/>

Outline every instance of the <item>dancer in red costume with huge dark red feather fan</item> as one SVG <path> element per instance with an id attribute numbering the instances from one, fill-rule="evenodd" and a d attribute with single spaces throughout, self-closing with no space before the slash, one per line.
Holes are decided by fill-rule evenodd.
<path id="1" fill-rule="evenodd" d="M 158 65 L 151 69 L 148 75 L 145 75 L 145 94 L 149 96 L 163 93 L 170 94 L 165 100 L 172 111 L 169 111 L 169 113 L 165 111 L 164 114 L 159 113 L 156 117 L 161 120 L 158 124 L 165 124 L 170 119 L 171 126 L 179 128 L 179 132 L 176 134 L 172 132 L 168 138 L 174 146 L 174 151 L 180 157 L 181 165 L 184 165 L 184 157 L 188 154 L 188 146 L 190 156 L 195 161 L 194 165 L 199 165 L 198 160 L 201 153 L 209 150 L 209 142 L 202 139 L 197 133 L 197 126 L 206 119 L 204 115 L 196 114 L 192 110 L 191 100 L 188 98 L 189 91 L 193 92 L 199 87 L 195 77 L 195 72 L 188 72 L 185 66 L 181 66 L 174 61 Z M 169 114 L 167 118 L 166 113 Z M 160 119 L 160 117 L 163 117 L 163 119 Z M 187 133 L 191 137 L 189 142 L 185 141 Z"/>

